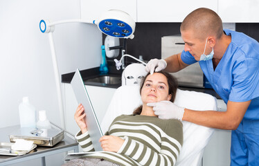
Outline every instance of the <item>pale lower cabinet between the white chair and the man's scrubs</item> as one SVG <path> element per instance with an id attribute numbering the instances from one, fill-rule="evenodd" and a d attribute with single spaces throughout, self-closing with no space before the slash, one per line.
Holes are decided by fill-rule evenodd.
<path id="1" fill-rule="evenodd" d="M 217 110 L 226 111 L 223 100 L 217 100 Z M 215 129 L 210 142 L 204 150 L 203 166 L 229 166 L 231 148 L 231 130 Z"/>

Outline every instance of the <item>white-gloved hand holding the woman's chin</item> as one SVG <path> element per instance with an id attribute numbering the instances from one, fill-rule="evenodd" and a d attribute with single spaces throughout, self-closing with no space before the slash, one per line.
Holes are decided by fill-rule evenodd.
<path id="1" fill-rule="evenodd" d="M 159 116 L 160 119 L 182 120 L 184 116 L 184 108 L 178 107 L 170 101 L 150 102 L 147 105 L 153 107 L 154 114 Z"/>

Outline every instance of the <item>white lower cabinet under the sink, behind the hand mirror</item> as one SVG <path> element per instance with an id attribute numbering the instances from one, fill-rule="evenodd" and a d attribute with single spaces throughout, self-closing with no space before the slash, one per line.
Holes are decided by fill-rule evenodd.
<path id="1" fill-rule="evenodd" d="M 99 86 L 86 85 L 91 104 L 96 112 L 99 123 L 102 122 L 102 118 L 105 116 L 107 107 L 111 102 L 111 98 L 114 95 L 116 89 L 105 88 Z M 75 98 L 71 84 L 64 84 L 64 114 L 66 130 L 75 134 L 78 132 L 79 127 L 74 120 L 74 113 L 78 107 L 78 101 Z"/>

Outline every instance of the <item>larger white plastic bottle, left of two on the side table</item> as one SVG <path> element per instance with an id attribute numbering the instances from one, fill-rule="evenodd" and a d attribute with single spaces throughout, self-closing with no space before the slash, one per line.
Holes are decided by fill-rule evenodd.
<path id="1" fill-rule="evenodd" d="M 19 118 L 21 127 L 36 127 L 36 110 L 30 104 L 28 97 L 22 98 L 19 104 Z"/>

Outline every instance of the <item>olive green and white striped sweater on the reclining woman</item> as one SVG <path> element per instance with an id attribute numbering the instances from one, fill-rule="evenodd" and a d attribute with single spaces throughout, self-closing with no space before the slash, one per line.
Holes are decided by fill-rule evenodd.
<path id="1" fill-rule="evenodd" d="M 183 144 L 183 125 L 179 120 L 155 116 L 122 115 L 114 119 L 105 135 L 125 140 L 119 151 L 96 151 L 87 157 L 119 165 L 175 165 Z M 75 138 L 83 151 L 94 151 L 88 132 L 79 131 Z"/>

